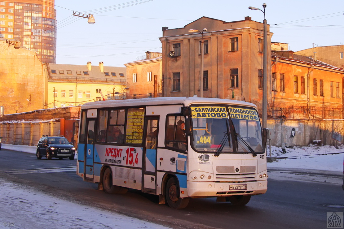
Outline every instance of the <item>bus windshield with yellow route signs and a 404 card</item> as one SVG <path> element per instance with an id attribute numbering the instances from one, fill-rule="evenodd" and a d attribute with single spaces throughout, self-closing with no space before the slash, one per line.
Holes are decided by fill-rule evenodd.
<path id="1" fill-rule="evenodd" d="M 191 106 L 191 116 L 192 146 L 196 151 L 264 153 L 258 112 L 254 108 Z"/>

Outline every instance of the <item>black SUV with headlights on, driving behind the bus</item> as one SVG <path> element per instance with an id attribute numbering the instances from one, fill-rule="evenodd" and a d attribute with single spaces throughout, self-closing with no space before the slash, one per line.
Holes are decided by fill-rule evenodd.
<path id="1" fill-rule="evenodd" d="M 68 142 L 67 138 L 61 135 L 43 135 L 37 144 L 36 156 L 37 159 L 45 156 L 47 160 L 51 160 L 53 157 L 74 160 L 75 147 L 72 145 L 72 142 Z"/>

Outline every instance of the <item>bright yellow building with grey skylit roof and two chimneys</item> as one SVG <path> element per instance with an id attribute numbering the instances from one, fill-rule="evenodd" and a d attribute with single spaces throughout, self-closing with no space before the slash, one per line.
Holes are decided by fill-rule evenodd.
<path id="1" fill-rule="evenodd" d="M 125 99 L 126 67 L 47 64 L 45 108 L 79 106 L 86 102 Z M 102 96 L 103 95 L 103 96 Z"/>

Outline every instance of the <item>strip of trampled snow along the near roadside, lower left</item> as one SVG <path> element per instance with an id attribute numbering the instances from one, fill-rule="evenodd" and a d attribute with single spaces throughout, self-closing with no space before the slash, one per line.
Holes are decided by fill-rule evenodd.
<path id="1" fill-rule="evenodd" d="M 0 179 L 0 228 L 168 228 L 83 206 Z"/>

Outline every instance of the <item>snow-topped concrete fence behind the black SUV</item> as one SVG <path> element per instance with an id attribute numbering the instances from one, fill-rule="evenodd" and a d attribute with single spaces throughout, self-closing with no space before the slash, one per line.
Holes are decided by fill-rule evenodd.
<path id="1" fill-rule="evenodd" d="M 42 135 L 60 135 L 60 121 L 7 121 L 0 122 L 3 144 L 36 145 Z"/>

